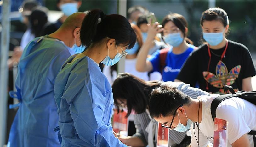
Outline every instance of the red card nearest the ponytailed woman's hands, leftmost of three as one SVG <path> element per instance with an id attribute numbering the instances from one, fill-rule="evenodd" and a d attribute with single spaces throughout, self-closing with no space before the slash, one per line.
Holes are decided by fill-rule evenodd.
<path id="1" fill-rule="evenodd" d="M 116 133 L 120 133 L 120 131 L 127 131 L 127 118 L 125 118 L 126 116 L 126 112 L 119 112 L 117 114 L 117 111 L 114 111 L 114 116 L 113 116 L 113 131 Z"/>

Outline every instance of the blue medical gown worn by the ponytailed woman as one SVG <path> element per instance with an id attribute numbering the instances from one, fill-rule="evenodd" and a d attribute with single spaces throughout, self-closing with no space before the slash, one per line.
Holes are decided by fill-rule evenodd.
<path id="1" fill-rule="evenodd" d="M 113 94 L 100 67 L 88 56 L 71 56 L 55 82 L 62 147 L 123 147 L 113 134 Z"/>

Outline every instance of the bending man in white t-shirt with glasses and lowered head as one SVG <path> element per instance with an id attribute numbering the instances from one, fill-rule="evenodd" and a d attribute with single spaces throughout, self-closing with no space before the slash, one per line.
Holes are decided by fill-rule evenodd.
<path id="1" fill-rule="evenodd" d="M 192 99 L 169 85 L 162 85 L 151 93 L 149 112 L 163 127 L 179 132 L 190 128 L 191 147 L 207 147 L 210 142 L 213 144 L 214 122 L 210 107 L 217 96 L 219 94 Z M 218 105 L 216 117 L 229 122 L 228 146 L 254 146 L 253 136 L 247 135 L 256 130 L 254 104 L 237 97 L 226 99 Z"/>

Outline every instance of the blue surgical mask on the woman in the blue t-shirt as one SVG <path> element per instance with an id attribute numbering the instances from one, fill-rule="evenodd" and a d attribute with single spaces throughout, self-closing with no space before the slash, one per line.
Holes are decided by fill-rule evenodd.
<path id="1" fill-rule="evenodd" d="M 164 36 L 164 41 L 168 44 L 170 44 L 173 47 L 178 47 L 182 42 L 184 38 L 181 37 L 181 33 L 171 33 L 166 36 Z"/>

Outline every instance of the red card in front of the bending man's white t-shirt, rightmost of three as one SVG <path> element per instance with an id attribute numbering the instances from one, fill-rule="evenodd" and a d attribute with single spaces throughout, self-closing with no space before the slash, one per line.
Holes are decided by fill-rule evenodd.
<path id="1" fill-rule="evenodd" d="M 228 146 L 228 122 L 223 119 L 214 119 L 213 147 Z"/>

